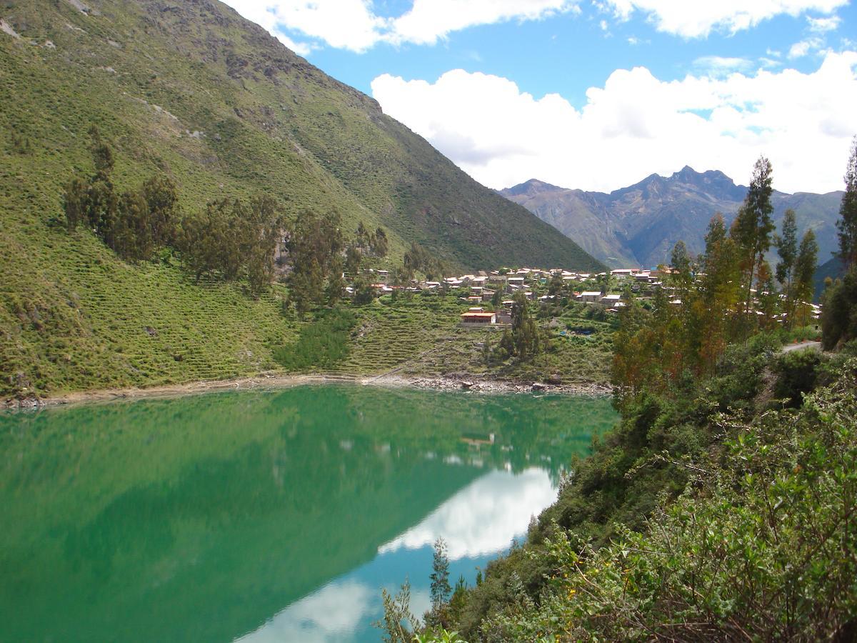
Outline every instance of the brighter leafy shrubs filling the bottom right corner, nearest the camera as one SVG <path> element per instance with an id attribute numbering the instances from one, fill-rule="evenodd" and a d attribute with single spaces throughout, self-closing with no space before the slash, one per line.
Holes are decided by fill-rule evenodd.
<path id="1" fill-rule="evenodd" d="M 722 416 L 722 460 L 641 530 L 600 550 L 554 529 L 540 602 L 485 640 L 853 640 L 857 633 L 857 360 L 800 411 Z"/>

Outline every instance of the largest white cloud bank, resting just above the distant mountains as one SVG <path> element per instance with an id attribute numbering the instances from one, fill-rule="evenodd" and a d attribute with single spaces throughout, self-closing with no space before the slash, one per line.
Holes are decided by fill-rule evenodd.
<path id="1" fill-rule="evenodd" d="M 477 181 L 503 188 L 537 177 L 610 190 L 683 165 L 746 183 L 767 155 L 775 187 L 842 188 L 857 132 L 857 51 L 828 52 L 818 69 L 697 73 L 661 81 L 617 69 L 579 109 L 559 94 L 536 98 L 494 75 L 461 69 L 434 82 L 381 75 L 384 111 L 432 142 Z"/>

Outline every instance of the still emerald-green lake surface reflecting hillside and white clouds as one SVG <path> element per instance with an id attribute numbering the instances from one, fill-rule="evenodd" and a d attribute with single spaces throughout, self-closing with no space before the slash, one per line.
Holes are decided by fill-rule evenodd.
<path id="1" fill-rule="evenodd" d="M 526 532 L 607 399 L 357 386 L 0 413 L 0 640 L 380 640 Z"/>

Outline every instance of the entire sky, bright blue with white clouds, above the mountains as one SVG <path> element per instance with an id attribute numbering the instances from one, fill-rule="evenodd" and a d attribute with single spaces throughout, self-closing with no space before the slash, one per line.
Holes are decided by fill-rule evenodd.
<path id="1" fill-rule="evenodd" d="M 683 165 L 840 189 L 847 0 L 227 0 L 476 180 L 616 189 Z"/>

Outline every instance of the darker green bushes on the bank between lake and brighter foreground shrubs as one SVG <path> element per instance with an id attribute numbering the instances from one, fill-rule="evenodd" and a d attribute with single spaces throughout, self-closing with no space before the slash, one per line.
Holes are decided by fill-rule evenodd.
<path id="1" fill-rule="evenodd" d="M 508 616 L 509 605 L 522 604 L 523 596 L 512 589 L 516 578 L 526 598 L 538 603 L 546 589 L 546 574 L 555 569 L 541 543 L 568 532 L 597 549 L 625 530 L 644 532 L 651 514 L 680 496 L 694 479 L 693 463 L 720 447 L 722 413 L 731 410 L 740 418 L 752 412 L 780 346 L 776 335 L 755 336 L 729 346 L 716 375 L 690 382 L 686 390 L 665 394 L 644 390 L 617 401 L 620 424 L 603 436 L 589 458 L 572 463 L 572 475 L 560 485 L 556 502 L 530 528 L 529 544 L 492 562 L 482 585 L 468 592 L 460 620 L 454 624 L 464 638 L 491 640 L 488 630 L 481 628 L 492 622 L 497 640 L 503 636 L 532 640 L 532 632 L 505 630 L 491 621 L 491 615 Z"/>

